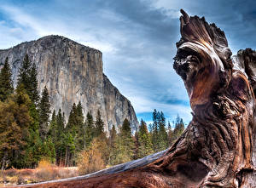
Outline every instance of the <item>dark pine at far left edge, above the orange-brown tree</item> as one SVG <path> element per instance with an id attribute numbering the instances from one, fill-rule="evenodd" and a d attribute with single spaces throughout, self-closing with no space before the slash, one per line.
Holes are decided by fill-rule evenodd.
<path id="1" fill-rule="evenodd" d="M 0 100 L 6 100 L 10 94 L 14 93 L 12 73 L 9 68 L 8 58 L 5 59 L 2 70 L 0 71 Z"/>

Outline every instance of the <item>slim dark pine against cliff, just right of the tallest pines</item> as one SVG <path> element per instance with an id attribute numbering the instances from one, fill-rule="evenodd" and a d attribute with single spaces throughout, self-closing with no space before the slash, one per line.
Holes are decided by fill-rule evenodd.
<path id="1" fill-rule="evenodd" d="M 49 131 L 50 103 L 48 89 L 44 86 L 42 98 L 39 103 L 39 134 L 42 140 L 46 139 Z"/>

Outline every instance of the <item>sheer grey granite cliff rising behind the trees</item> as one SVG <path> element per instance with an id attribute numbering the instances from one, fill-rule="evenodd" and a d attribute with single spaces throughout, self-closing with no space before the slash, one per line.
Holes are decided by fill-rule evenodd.
<path id="1" fill-rule="evenodd" d="M 73 103 L 81 101 L 84 115 L 90 111 L 96 117 L 96 112 L 101 111 L 107 132 L 112 125 L 119 126 L 125 118 L 133 129 L 137 128 L 131 102 L 102 72 L 102 53 L 99 50 L 60 36 L 42 37 L 0 50 L 0 62 L 9 57 L 15 85 L 25 54 L 36 63 L 38 89 L 41 93 L 46 85 L 55 111 L 61 108 L 67 118 Z"/>

